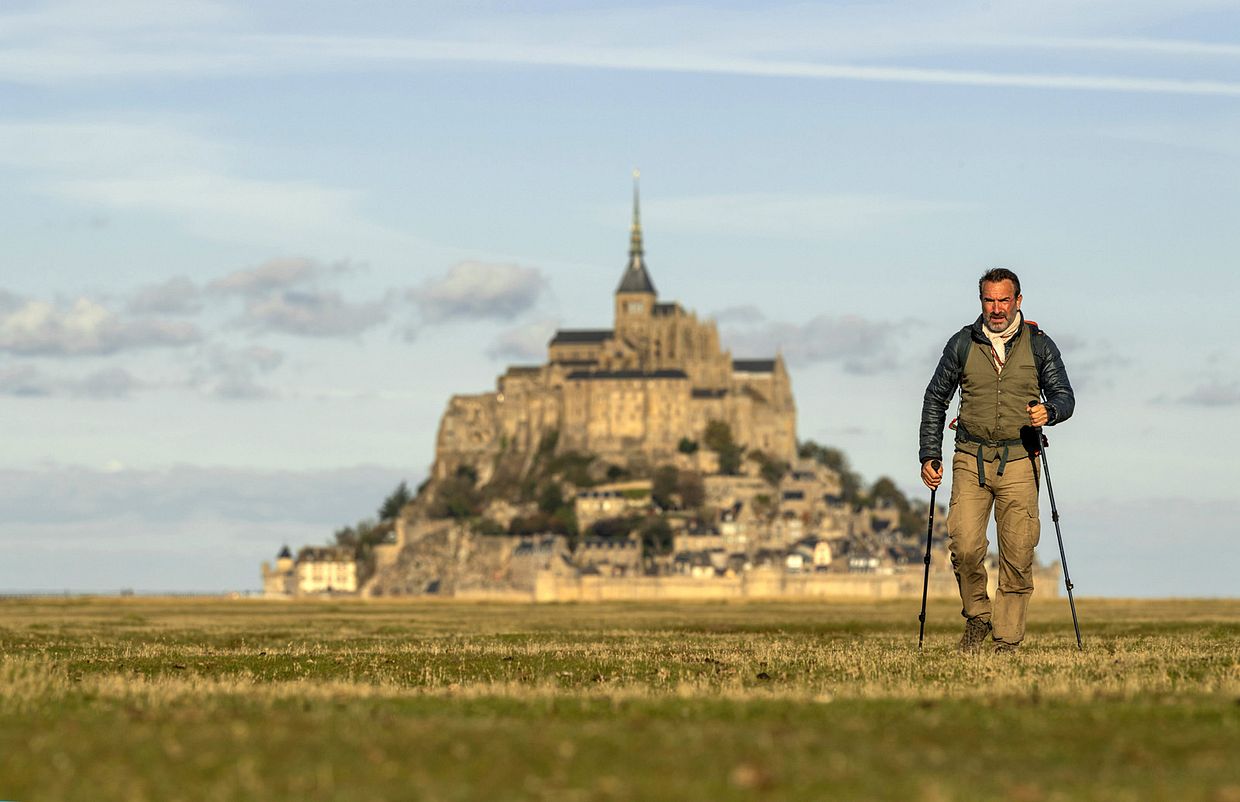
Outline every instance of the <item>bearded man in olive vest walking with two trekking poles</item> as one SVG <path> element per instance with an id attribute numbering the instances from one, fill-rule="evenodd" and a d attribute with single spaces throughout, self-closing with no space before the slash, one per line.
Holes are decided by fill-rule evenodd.
<path id="1" fill-rule="evenodd" d="M 981 316 L 947 341 L 926 387 L 919 459 L 921 481 L 939 487 L 942 424 L 959 387 L 947 539 L 963 604 L 960 648 L 978 651 L 990 636 L 996 652 L 1012 652 L 1024 640 L 1033 549 L 1042 532 L 1037 428 L 1068 420 L 1076 400 L 1059 348 L 1021 312 L 1021 279 L 996 268 L 982 275 L 977 289 Z M 1029 405 L 1030 400 L 1038 403 Z M 999 552 L 993 605 L 986 593 L 992 506 Z"/>

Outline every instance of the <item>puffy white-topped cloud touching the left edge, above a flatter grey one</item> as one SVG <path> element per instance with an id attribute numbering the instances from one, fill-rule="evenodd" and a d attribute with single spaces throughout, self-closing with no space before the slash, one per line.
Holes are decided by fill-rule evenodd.
<path id="1" fill-rule="evenodd" d="M 89 297 L 69 304 L 27 300 L 0 312 L 0 351 L 24 356 L 107 355 L 177 347 L 198 340 L 198 328 L 191 324 L 124 320 Z"/>

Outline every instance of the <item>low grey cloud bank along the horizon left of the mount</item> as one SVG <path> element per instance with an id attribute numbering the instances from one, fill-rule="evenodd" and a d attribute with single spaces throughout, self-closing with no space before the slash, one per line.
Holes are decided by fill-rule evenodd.
<path id="1" fill-rule="evenodd" d="M 258 589 L 281 545 L 327 543 L 399 481 L 422 478 L 365 466 L 117 467 L 0 469 L 0 590 Z"/>

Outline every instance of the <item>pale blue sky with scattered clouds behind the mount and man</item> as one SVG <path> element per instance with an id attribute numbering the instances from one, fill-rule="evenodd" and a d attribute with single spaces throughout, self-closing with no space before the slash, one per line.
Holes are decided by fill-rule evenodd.
<path id="1" fill-rule="evenodd" d="M 911 493 L 1016 269 L 1083 595 L 1234 595 L 1238 2 L 7 2 L 0 589 L 232 590 L 651 274 Z M 1044 559 L 1054 557 L 1049 514 Z"/>

